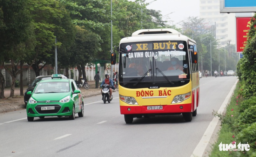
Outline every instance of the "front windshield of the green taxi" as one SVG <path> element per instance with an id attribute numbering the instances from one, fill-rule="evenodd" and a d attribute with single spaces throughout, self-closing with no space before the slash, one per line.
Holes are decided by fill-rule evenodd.
<path id="1" fill-rule="evenodd" d="M 69 91 L 69 82 L 39 82 L 33 93 L 63 93 Z"/>

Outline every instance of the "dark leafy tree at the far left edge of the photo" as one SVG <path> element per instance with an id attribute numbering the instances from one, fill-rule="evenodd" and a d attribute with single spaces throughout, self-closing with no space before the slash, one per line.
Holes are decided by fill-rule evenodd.
<path id="1" fill-rule="evenodd" d="M 0 61 L 1 65 L 12 76 L 10 97 L 14 95 L 16 75 L 20 70 L 15 62 L 26 57 L 27 41 L 31 32 L 31 17 L 28 12 L 28 0 L 0 1 Z M 12 69 L 5 62 L 10 61 Z M 0 74 L 0 98 L 4 98 L 4 77 Z"/>

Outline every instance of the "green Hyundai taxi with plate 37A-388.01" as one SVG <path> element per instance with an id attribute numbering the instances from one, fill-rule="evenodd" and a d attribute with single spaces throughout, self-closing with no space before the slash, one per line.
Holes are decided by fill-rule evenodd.
<path id="1" fill-rule="evenodd" d="M 69 117 L 74 120 L 75 114 L 83 117 L 83 97 L 81 91 L 72 79 L 61 79 L 60 74 L 53 74 L 51 80 L 40 81 L 27 103 L 27 119 L 49 116 Z"/>

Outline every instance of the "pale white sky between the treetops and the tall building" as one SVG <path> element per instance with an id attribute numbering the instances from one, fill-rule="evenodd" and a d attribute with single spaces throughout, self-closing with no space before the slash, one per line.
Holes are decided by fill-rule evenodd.
<path id="1" fill-rule="evenodd" d="M 147 9 L 160 10 L 163 21 L 179 28 L 181 21 L 189 16 L 199 17 L 199 0 L 146 0 L 145 3 L 150 3 Z"/>

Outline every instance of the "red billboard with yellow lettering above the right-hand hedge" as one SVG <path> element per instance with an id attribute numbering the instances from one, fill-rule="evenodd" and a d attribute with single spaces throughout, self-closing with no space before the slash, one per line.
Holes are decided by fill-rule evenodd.
<path id="1" fill-rule="evenodd" d="M 242 53 L 246 42 L 252 17 L 236 17 L 236 52 Z"/>

